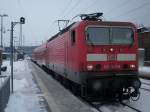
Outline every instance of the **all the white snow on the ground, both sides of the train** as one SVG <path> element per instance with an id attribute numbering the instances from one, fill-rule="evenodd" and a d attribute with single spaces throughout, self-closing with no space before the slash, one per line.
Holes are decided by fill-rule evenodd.
<path id="1" fill-rule="evenodd" d="M 7 65 L 8 67 L 8 70 L 3 72 L 3 75 L 10 75 L 10 62 L 5 61 L 3 65 Z M 150 73 L 150 68 L 140 67 L 139 71 L 142 73 Z M 150 83 L 149 80 L 141 80 Z M 39 96 L 42 96 L 42 93 L 38 93 L 39 91 L 33 80 L 27 61 L 14 62 L 14 93 L 10 96 L 5 112 L 45 112 L 46 110 L 43 108 L 42 110 L 39 103 Z M 138 101 L 127 101 L 126 103 L 142 112 L 150 112 L 150 92 L 146 90 L 140 91 L 141 97 Z M 104 112 L 133 112 L 132 109 L 117 104 L 104 105 L 100 109 Z"/>

